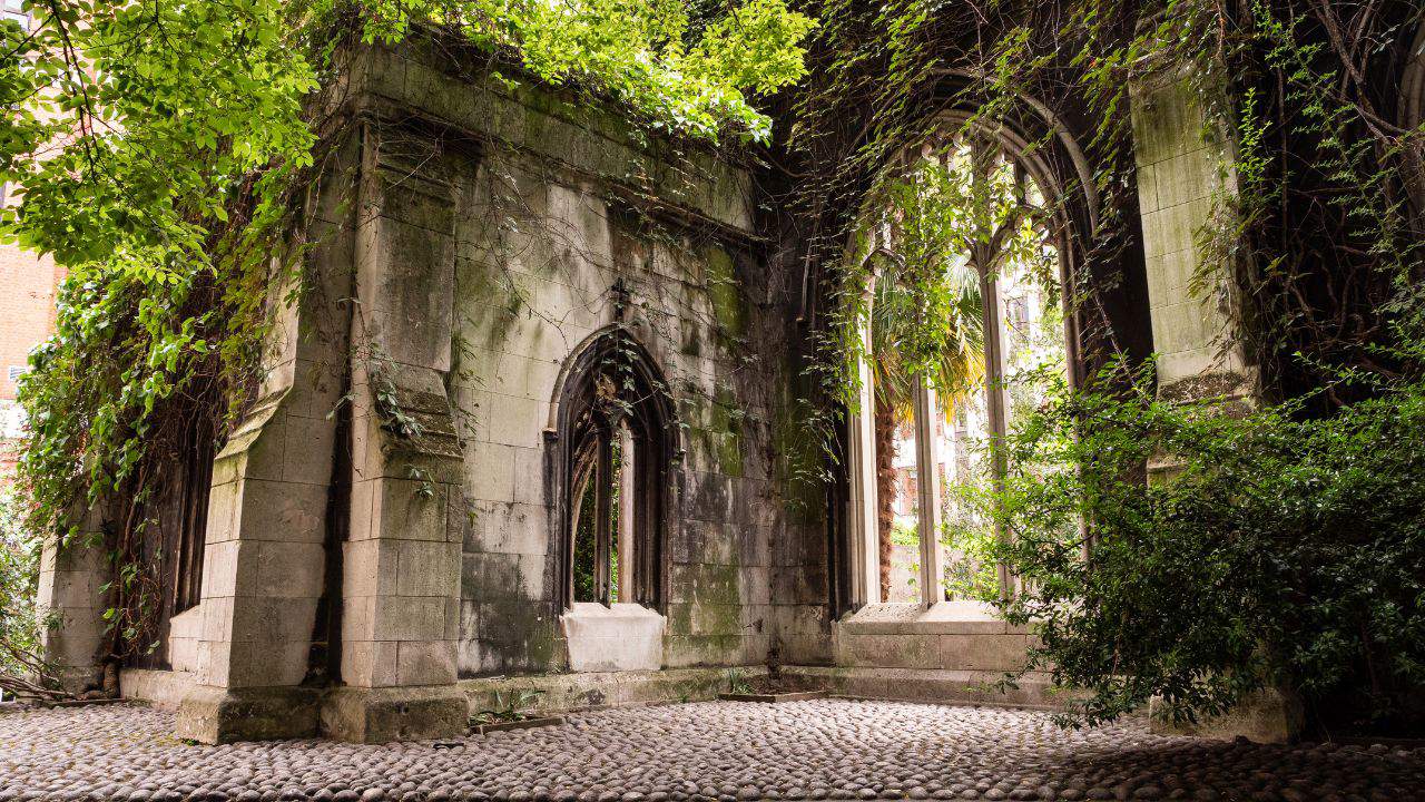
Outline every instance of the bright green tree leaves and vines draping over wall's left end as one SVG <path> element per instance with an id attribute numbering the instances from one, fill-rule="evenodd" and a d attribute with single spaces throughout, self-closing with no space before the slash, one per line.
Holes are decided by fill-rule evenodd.
<path id="1" fill-rule="evenodd" d="M 274 287 L 301 285 L 304 200 L 342 137 L 349 46 L 447 36 L 517 80 L 617 98 L 650 128 L 764 141 L 754 101 L 802 74 L 812 21 L 784 0 L 26 0 L 0 24 L 0 235 L 68 270 L 21 385 L 27 527 L 115 565 L 110 651 L 144 648 L 145 504 L 254 385 Z"/>

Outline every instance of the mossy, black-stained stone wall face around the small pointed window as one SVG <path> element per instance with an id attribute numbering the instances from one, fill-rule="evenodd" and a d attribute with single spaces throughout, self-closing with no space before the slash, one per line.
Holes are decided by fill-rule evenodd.
<path id="1" fill-rule="evenodd" d="M 570 668 L 556 592 L 551 402 L 561 368 L 614 323 L 620 303 L 678 415 L 658 662 L 765 662 L 778 624 L 824 618 L 825 569 L 801 571 L 818 529 L 802 524 L 791 547 L 784 534 L 778 438 L 791 425 L 792 315 L 752 233 L 748 173 L 697 148 L 641 141 L 587 103 L 472 80 L 463 68 L 412 49 L 372 53 L 358 70 L 383 124 L 436 120 L 435 138 L 459 136 L 477 151 L 467 170 L 443 176 L 456 188 L 455 280 L 429 288 L 453 293 L 460 675 Z M 778 561 L 798 571 L 778 572 Z M 774 587 L 785 592 L 775 601 Z"/>

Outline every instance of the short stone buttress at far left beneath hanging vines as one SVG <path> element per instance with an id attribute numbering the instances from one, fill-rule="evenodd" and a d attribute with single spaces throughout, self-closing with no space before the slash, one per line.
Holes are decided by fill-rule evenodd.
<path id="1" fill-rule="evenodd" d="M 104 645 L 104 585 L 113 577 L 104 555 L 104 512 L 101 501 L 88 509 L 78 532 L 61 544 L 58 535 L 44 541 L 40 555 L 40 616 L 43 656 L 58 674 L 66 691 L 98 689 L 104 684 L 100 649 Z"/>

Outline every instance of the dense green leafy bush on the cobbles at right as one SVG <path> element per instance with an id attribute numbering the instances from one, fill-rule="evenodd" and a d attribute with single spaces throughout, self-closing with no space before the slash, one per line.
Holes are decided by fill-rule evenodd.
<path id="1" fill-rule="evenodd" d="M 1160 401 L 1151 365 L 1131 378 L 1060 390 L 1010 435 L 995 514 L 1029 588 L 1005 612 L 1042 638 L 1029 668 L 1086 689 L 1070 706 L 1087 724 L 1154 695 L 1194 721 L 1277 686 L 1320 726 L 1408 728 L 1425 686 L 1425 385 L 1298 420 Z M 1146 482 L 1149 461 L 1171 479 Z"/>

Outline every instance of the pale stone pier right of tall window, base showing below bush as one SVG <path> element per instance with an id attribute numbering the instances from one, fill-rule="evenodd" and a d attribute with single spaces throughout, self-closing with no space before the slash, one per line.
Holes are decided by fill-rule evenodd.
<path id="1" fill-rule="evenodd" d="M 1260 398 L 1258 377 L 1238 341 L 1230 265 L 1206 265 L 1198 234 L 1237 191 L 1234 150 L 1226 121 L 1208 118 L 1203 90 L 1188 76 L 1160 73 L 1130 87 L 1143 251 L 1147 263 L 1153 344 L 1159 352 L 1159 397 L 1220 398 L 1223 412 Z M 1168 481 L 1176 462 L 1161 455 L 1150 481 Z M 1150 711 L 1153 706 L 1150 706 Z M 1275 689 L 1255 694 L 1227 715 L 1174 728 L 1151 715 L 1159 732 L 1245 736 L 1285 742 L 1302 728 L 1298 701 Z"/>

